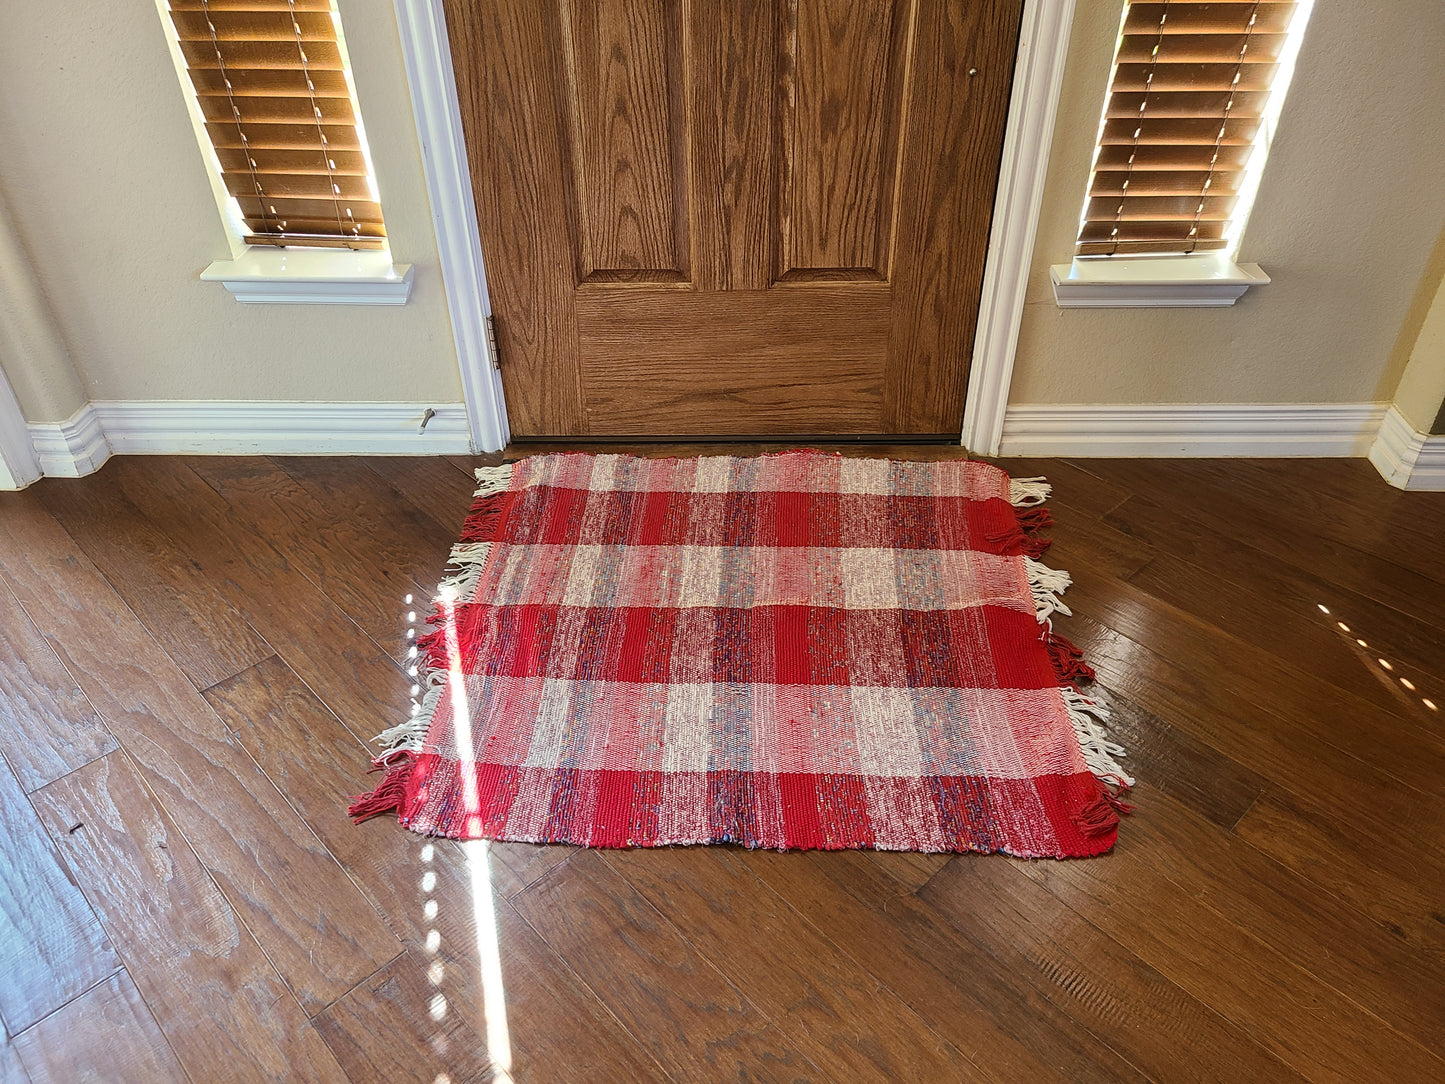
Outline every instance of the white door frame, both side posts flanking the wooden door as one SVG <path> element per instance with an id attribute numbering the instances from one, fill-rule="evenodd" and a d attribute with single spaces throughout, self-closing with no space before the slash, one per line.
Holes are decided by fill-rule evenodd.
<path id="1" fill-rule="evenodd" d="M 1019 26 L 959 434 L 959 442 L 977 455 L 997 455 L 1003 436 L 1074 3 L 1025 0 Z M 473 451 L 501 451 L 510 438 L 507 406 L 488 347 L 491 301 L 442 0 L 394 0 L 394 6 Z"/>

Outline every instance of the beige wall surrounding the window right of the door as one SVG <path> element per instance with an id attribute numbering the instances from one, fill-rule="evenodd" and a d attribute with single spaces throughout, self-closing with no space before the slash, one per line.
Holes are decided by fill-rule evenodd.
<path id="1" fill-rule="evenodd" d="M 1061 311 L 1049 264 L 1072 253 L 1118 13 L 1078 0 L 1010 400 L 1393 399 L 1445 225 L 1439 0 L 1315 4 L 1240 253 L 1269 286 L 1227 309 Z"/>

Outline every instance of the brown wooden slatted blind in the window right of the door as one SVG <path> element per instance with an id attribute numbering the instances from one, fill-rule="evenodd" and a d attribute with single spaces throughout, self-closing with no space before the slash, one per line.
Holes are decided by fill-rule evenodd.
<path id="1" fill-rule="evenodd" d="M 1295 3 L 1130 3 L 1079 256 L 1224 249 Z"/>

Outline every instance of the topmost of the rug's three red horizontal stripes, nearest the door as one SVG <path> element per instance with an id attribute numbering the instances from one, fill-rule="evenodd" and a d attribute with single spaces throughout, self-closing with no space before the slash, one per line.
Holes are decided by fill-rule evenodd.
<path id="1" fill-rule="evenodd" d="M 646 493 L 532 486 L 496 538 L 512 543 L 978 549 L 1029 545 L 1006 500 L 870 493 Z"/>

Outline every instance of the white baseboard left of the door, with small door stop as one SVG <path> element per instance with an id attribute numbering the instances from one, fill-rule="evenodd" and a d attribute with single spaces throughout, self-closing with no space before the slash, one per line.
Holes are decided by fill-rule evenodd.
<path id="1" fill-rule="evenodd" d="M 426 410 L 435 410 L 420 431 Z M 100 400 L 30 425 L 49 476 L 79 477 L 111 454 L 454 455 L 471 449 L 462 403 Z"/>

